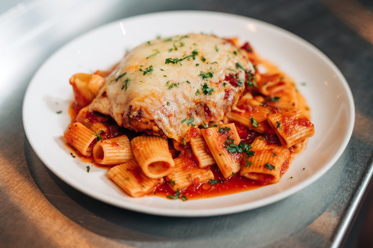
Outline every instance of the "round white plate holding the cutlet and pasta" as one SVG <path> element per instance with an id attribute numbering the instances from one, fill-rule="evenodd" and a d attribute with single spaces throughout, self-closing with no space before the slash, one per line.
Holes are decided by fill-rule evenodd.
<path id="1" fill-rule="evenodd" d="M 157 35 L 188 32 L 214 33 L 249 41 L 262 57 L 291 76 L 307 99 L 315 135 L 278 183 L 202 200 L 131 198 L 107 178 L 106 170 L 92 166 L 87 173 L 88 164 L 70 155 L 63 138 L 70 122 L 68 106 L 73 100 L 70 76 L 109 68 L 121 59 L 126 49 L 152 40 Z M 62 110 L 61 114 L 56 113 L 59 110 Z M 164 216 L 236 213 L 294 194 L 320 178 L 341 156 L 350 139 L 354 117 L 354 101 L 344 76 L 313 45 L 288 31 L 255 19 L 199 11 L 135 16 L 81 35 L 60 48 L 41 66 L 28 87 L 23 103 L 23 125 L 27 138 L 35 153 L 59 178 L 105 203 Z"/>

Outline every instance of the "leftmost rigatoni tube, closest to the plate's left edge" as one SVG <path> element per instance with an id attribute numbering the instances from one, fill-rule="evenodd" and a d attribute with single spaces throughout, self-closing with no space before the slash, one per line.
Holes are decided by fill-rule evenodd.
<path id="1" fill-rule="evenodd" d="M 93 147 L 90 145 L 96 138 L 93 131 L 80 122 L 71 123 L 65 132 L 66 141 L 83 156 L 91 155 Z"/>

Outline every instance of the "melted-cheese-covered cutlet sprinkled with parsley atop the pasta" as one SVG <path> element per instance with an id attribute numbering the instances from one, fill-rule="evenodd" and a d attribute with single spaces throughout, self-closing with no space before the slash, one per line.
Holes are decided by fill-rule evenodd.
<path id="1" fill-rule="evenodd" d="M 253 69 L 243 52 L 214 35 L 149 41 L 126 54 L 89 109 L 180 142 L 192 125 L 219 122 L 231 110 L 245 87 L 242 68 Z"/>

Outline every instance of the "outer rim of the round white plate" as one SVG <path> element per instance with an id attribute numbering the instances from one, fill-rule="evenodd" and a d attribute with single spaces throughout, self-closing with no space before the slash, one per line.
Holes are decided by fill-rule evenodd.
<path id="1" fill-rule="evenodd" d="M 291 38 L 297 43 L 300 43 L 304 47 L 308 48 L 312 53 L 315 53 L 317 56 L 319 56 L 322 60 L 324 60 L 327 65 L 338 75 L 338 77 L 341 79 L 342 86 L 344 88 L 344 91 L 347 93 L 347 99 L 348 99 L 348 110 L 351 112 L 348 117 L 350 118 L 350 122 L 347 124 L 348 129 L 346 129 L 346 136 L 343 139 L 343 142 L 341 146 L 336 150 L 335 154 L 327 161 L 325 166 L 323 166 L 319 171 L 316 173 L 313 173 L 311 176 L 309 176 L 307 179 L 303 180 L 302 182 L 292 186 L 291 188 L 285 189 L 284 191 L 269 196 L 269 197 L 264 197 L 261 198 L 260 200 L 252 201 L 252 202 L 246 202 L 246 203 L 241 203 L 238 205 L 232 205 L 228 207 L 217 207 L 217 208 L 203 208 L 203 209 L 182 209 L 182 208 L 158 208 L 158 207 L 153 207 L 149 205 L 139 205 L 139 204 L 133 204 L 130 202 L 127 202 L 125 206 L 122 204 L 119 204 L 115 201 L 115 199 L 110 200 L 109 198 L 106 197 L 99 197 L 98 195 L 95 195 L 94 192 L 89 191 L 86 189 L 86 187 L 79 187 L 75 185 L 75 183 L 69 182 L 69 180 L 62 178 L 57 171 L 54 169 L 53 166 L 48 166 L 47 163 L 45 163 L 43 156 L 40 156 L 41 154 L 38 153 L 37 149 L 35 149 L 34 144 L 32 143 L 32 139 L 29 138 L 30 131 L 28 131 L 28 126 L 26 125 L 26 119 L 28 119 L 25 114 L 26 112 L 26 100 L 29 98 L 29 88 L 31 87 L 32 82 L 34 82 L 34 79 L 37 77 L 39 73 L 41 73 L 42 68 L 48 64 L 50 60 L 56 56 L 56 54 L 68 46 L 71 43 L 74 43 L 76 40 L 84 37 L 84 36 L 89 36 L 93 32 L 98 32 L 101 29 L 105 29 L 107 26 L 115 25 L 115 23 L 119 23 L 122 21 L 131 21 L 133 19 L 138 19 L 138 18 L 144 18 L 144 17 L 150 17 L 150 16 L 159 16 L 159 15 L 167 15 L 167 14 L 186 14 L 186 15 L 216 15 L 216 16 L 222 16 L 224 18 L 233 18 L 233 19 L 241 19 L 242 21 L 251 21 L 254 23 L 260 23 L 261 25 L 264 25 L 268 28 L 271 29 L 271 32 L 276 32 L 285 35 L 288 38 Z M 32 79 L 30 80 L 27 88 L 26 88 L 26 93 L 23 98 L 23 103 L 22 103 L 22 123 L 23 123 L 23 128 L 25 130 L 26 137 L 29 141 L 29 144 L 31 148 L 34 150 L 35 154 L 37 154 L 38 158 L 43 162 L 43 164 L 51 170 L 54 175 L 56 175 L 59 179 L 61 179 L 63 182 L 67 183 L 69 186 L 72 186 L 72 188 L 78 190 L 79 192 L 82 192 L 83 194 L 86 194 L 98 201 L 104 202 L 106 204 L 110 204 L 119 208 L 131 210 L 131 211 L 136 211 L 139 213 L 146 213 L 146 214 L 153 214 L 153 215 L 158 215 L 158 216 L 173 216 L 173 217 L 205 217 L 205 216 L 219 216 L 219 215 L 224 215 L 224 214 L 233 214 L 233 213 L 238 213 L 242 211 L 247 211 L 259 207 L 263 207 L 265 205 L 270 205 L 272 203 L 275 203 L 277 201 L 283 200 L 287 197 L 289 197 L 292 194 L 295 194 L 298 191 L 301 191 L 305 187 L 311 185 L 313 182 L 315 182 L 317 179 L 321 178 L 322 175 L 324 175 L 335 163 L 336 161 L 341 157 L 342 153 L 345 151 L 345 148 L 348 145 L 348 142 L 351 139 L 352 131 L 354 129 L 354 122 L 355 122 L 355 104 L 354 104 L 354 98 L 352 95 L 352 91 L 350 86 L 348 85 L 347 80 L 343 76 L 342 72 L 338 69 L 338 67 L 332 62 L 332 60 L 327 57 L 319 48 L 315 47 L 313 44 L 309 43 L 307 40 L 304 40 L 303 38 L 299 37 L 296 34 L 293 34 L 290 31 L 287 31 L 286 29 L 283 29 L 279 26 L 273 25 L 268 22 L 264 22 L 258 19 L 250 18 L 247 16 L 241 16 L 241 15 L 236 15 L 232 13 L 225 13 L 225 12 L 215 12 L 215 11 L 204 11 L 204 10 L 175 10 L 175 11 L 160 11 L 160 12 L 152 12 L 152 13 L 145 13 L 141 15 L 135 15 L 135 16 L 130 16 L 127 18 L 122 18 L 118 19 L 100 26 L 97 26 L 96 28 L 93 28 L 87 32 L 84 32 L 72 40 L 69 40 L 59 48 L 57 48 L 56 51 L 54 51 L 44 62 L 43 64 L 37 69 L 37 71 L 34 73 L 32 76 Z M 201 199 L 203 200 L 203 199 Z M 255 203 L 255 204 L 254 204 Z M 160 211 L 160 210 L 165 210 L 165 211 Z"/>

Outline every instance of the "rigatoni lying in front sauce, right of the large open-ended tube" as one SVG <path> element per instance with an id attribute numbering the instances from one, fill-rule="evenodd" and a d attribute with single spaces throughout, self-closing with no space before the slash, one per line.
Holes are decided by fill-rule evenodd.
<path id="1" fill-rule="evenodd" d="M 192 184 L 199 184 L 214 179 L 210 169 L 201 169 L 195 165 L 190 158 L 178 157 L 174 159 L 175 167 L 167 175 L 170 180 L 169 186 L 173 191 L 188 188 Z"/>

